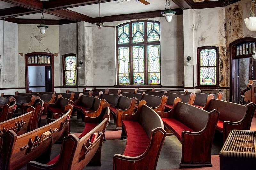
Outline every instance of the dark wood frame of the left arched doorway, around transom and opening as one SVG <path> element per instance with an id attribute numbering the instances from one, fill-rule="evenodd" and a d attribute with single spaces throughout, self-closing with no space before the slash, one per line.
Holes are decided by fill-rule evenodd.
<path id="1" fill-rule="evenodd" d="M 34 55 L 45 55 L 51 57 L 51 64 L 28 64 L 28 57 L 34 56 Z M 28 54 L 25 54 L 25 88 L 26 93 L 28 93 L 29 90 L 29 84 L 28 84 L 28 66 L 51 66 L 52 70 L 52 92 L 54 92 L 54 58 L 53 54 L 47 53 L 47 52 L 31 52 Z"/>

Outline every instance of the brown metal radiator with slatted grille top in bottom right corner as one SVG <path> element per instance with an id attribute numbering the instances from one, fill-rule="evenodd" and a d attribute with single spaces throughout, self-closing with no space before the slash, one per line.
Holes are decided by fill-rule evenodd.
<path id="1" fill-rule="evenodd" d="M 256 169 L 255 134 L 232 130 L 220 151 L 220 170 Z"/>

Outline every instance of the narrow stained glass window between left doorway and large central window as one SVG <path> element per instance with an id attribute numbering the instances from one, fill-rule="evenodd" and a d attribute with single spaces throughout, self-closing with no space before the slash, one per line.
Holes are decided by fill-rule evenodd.
<path id="1" fill-rule="evenodd" d="M 76 54 L 63 55 L 63 85 L 76 85 Z"/>

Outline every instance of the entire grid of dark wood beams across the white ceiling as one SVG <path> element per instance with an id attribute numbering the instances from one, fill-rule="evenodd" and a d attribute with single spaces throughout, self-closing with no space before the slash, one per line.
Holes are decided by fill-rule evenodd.
<path id="1" fill-rule="evenodd" d="M 54 16 L 61 17 L 60 20 L 45 20 L 49 25 L 60 25 L 78 21 L 86 21 L 89 23 L 96 23 L 98 18 L 92 18 L 83 15 L 78 12 L 68 10 L 67 8 L 73 8 L 84 5 L 97 4 L 98 0 L 50 0 L 50 1 L 38 1 L 38 0 L 2 0 L 7 3 L 11 3 L 17 6 L 0 9 L 0 19 L 6 21 L 19 23 L 19 24 L 40 24 L 40 19 L 20 19 L 15 18 L 18 16 L 41 13 L 48 13 Z M 116 0 L 101 0 L 102 3 L 108 3 Z M 180 8 L 172 9 L 176 11 L 176 15 L 182 14 L 182 10 L 185 9 L 201 9 L 201 8 L 213 8 L 226 6 L 228 4 L 235 3 L 239 0 L 219 0 L 219 1 L 207 1 L 207 2 L 195 2 L 194 0 L 172 0 Z M 141 18 L 153 18 L 160 17 L 160 11 L 140 12 L 133 14 L 122 14 L 114 16 L 101 17 L 102 22 L 120 21 L 129 19 L 141 19 Z"/>

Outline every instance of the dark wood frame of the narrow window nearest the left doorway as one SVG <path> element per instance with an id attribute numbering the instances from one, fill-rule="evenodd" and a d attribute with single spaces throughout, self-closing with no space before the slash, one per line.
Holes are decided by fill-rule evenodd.
<path id="1" fill-rule="evenodd" d="M 75 83 L 74 84 L 66 84 L 66 71 L 68 71 L 68 70 L 66 70 L 66 58 L 67 57 L 69 57 L 69 56 L 75 56 L 75 58 L 76 58 L 76 54 L 72 54 L 72 53 L 70 53 L 70 54 L 64 54 L 64 55 L 62 55 L 62 81 L 63 81 L 63 86 L 68 86 L 68 87 L 76 87 L 77 86 L 77 58 L 76 58 L 76 61 L 75 61 L 75 64 L 76 64 L 76 66 L 75 66 L 75 70 L 73 70 L 73 71 L 75 71 L 75 74 L 76 74 L 76 76 L 75 76 Z"/>

